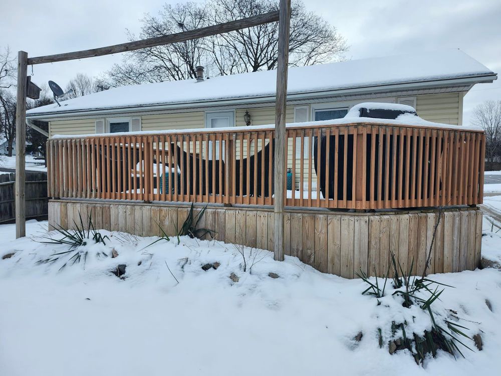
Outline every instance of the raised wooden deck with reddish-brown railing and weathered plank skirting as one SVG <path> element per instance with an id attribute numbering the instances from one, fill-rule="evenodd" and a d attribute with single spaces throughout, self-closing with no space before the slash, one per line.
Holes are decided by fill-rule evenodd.
<path id="1" fill-rule="evenodd" d="M 92 212 L 97 228 L 175 235 L 193 202 L 218 240 L 273 250 L 274 139 L 264 127 L 50 139 L 50 225 Z M 288 127 L 287 140 L 287 255 L 353 278 L 384 275 L 393 252 L 421 273 L 446 207 L 429 272 L 478 265 L 482 131 L 333 124 Z"/>

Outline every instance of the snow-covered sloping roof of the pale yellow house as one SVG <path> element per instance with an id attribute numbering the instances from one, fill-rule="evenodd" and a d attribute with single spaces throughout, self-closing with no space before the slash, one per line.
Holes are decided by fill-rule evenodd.
<path id="1" fill-rule="evenodd" d="M 495 74 L 460 50 L 350 60 L 289 69 L 288 95 L 412 84 Z M 31 109 L 28 115 L 59 114 L 152 105 L 274 96 L 276 71 L 218 76 L 202 82 L 166 81 L 113 88 Z"/>

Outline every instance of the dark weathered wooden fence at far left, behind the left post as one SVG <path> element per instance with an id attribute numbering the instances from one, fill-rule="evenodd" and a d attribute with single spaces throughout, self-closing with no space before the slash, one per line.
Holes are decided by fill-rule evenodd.
<path id="1" fill-rule="evenodd" d="M 0 223 L 14 222 L 15 192 L 14 185 L 16 175 L 14 173 L 0 174 Z M 47 173 L 26 173 L 26 218 L 44 218 L 48 213 L 47 199 Z"/>

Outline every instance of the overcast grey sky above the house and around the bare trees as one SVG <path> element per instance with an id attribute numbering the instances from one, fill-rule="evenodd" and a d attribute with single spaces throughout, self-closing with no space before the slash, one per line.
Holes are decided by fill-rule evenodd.
<path id="1" fill-rule="evenodd" d="M 145 13 L 156 15 L 161 0 L 1 0 L 0 47 L 39 56 L 126 42 Z M 167 3 L 178 3 L 176 0 Z M 459 48 L 496 73 L 501 72 L 501 1 L 306 0 L 307 8 L 335 25 L 351 46 L 350 59 Z M 37 84 L 65 86 L 78 72 L 108 70 L 120 55 L 34 66 Z M 29 69 L 31 74 L 31 68 Z M 479 84 L 464 98 L 464 124 L 483 100 L 501 100 L 501 77 Z"/>

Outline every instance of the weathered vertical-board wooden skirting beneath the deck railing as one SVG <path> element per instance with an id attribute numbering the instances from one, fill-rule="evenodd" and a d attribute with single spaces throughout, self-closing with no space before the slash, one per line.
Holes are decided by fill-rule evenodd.
<path id="1" fill-rule="evenodd" d="M 175 235 L 187 216 L 182 204 L 51 200 L 49 226 L 72 229 L 92 213 L 96 228 L 139 236 L 160 235 L 157 224 Z M 196 209 L 200 210 L 199 208 Z M 347 213 L 319 210 L 286 211 L 286 255 L 321 272 L 354 278 L 360 269 L 370 275 L 386 274 L 393 252 L 402 265 L 422 273 L 437 211 Z M 273 210 L 262 208 L 209 207 L 200 227 L 217 232 L 225 243 L 273 251 Z M 476 208 L 447 209 L 440 222 L 429 273 L 473 270 L 480 261 L 482 214 Z M 232 247 L 228 245 L 228 249 Z"/>

